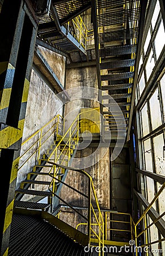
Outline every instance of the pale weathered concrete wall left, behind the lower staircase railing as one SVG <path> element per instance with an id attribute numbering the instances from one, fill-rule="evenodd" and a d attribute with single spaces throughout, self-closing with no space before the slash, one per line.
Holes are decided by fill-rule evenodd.
<path id="1" fill-rule="evenodd" d="M 46 123 L 48 123 L 54 116 L 57 114 L 62 114 L 62 102 L 57 99 L 52 90 L 48 85 L 40 78 L 39 75 L 35 71 L 32 70 L 31 80 L 29 85 L 29 94 L 27 101 L 27 110 L 26 110 L 26 118 L 24 123 L 24 131 L 23 131 L 23 142 L 26 141 L 32 134 L 34 134 L 37 130 L 43 127 Z M 49 125 L 50 126 L 50 125 Z M 48 127 L 46 129 L 48 129 Z M 43 134 L 45 133 L 45 129 L 43 130 Z M 51 132 L 51 131 L 50 131 Z M 50 133 L 49 133 L 50 134 Z M 48 135 L 49 135 L 48 134 Z M 39 139 L 40 133 L 37 133 L 35 137 L 27 141 L 22 145 L 20 156 L 26 152 L 26 150 Z M 48 141 L 41 147 L 40 154 L 44 154 L 45 150 L 53 143 L 53 135 L 48 139 Z M 19 168 L 28 159 L 29 155 L 31 155 L 39 146 L 39 143 L 35 144 L 28 152 L 28 154 L 23 155 L 20 158 Z M 37 152 L 34 154 L 26 164 L 18 171 L 17 178 L 17 188 L 20 185 L 20 182 L 26 179 L 26 175 L 29 171 L 32 171 L 32 167 L 36 164 L 37 160 Z"/>

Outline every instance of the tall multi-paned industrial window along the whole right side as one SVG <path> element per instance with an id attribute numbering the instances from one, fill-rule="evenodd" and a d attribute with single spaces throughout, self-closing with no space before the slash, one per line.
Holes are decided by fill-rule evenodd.
<path id="1" fill-rule="evenodd" d="M 162 0 L 160 0 L 162 1 Z M 150 1 L 150 3 L 152 0 Z M 153 3 L 153 2 L 152 2 Z M 142 42 L 142 55 L 138 68 L 138 86 L 137 86 L 137 138 L 140 138 L 137 147 L 137 166 L 146 171 L 153 172 L 157 175 L 165 175 L 165 75 L 163 75 L 163 51 L 165 43 L 165 30 L 163 19 L 161 18 L 161 8 L 158 1 L 154 1 L 154 10 L 147 13 L 152 15 L 149 18 L 150 24 L 144 31 Z M 143 65 L 142 65 L 143 64 Z M 160 68 L 157 68 L 160 67 Z M 141 97 L 143 94 L 143 97 Z M 136 102 L 137 103 L 137 102 Z M 139 119 L 138 119 L 139 118 Z M 141 150 L 142 149 L 142 150 Z M 137 155 L 138 156 L 138 155 Z M 156 193 L 162 187 L 162 184 L 155 181 L 147 175 L 139 175 L 138 184 L 141 183 L 141 193 L 146 200 L 151 203 Z M 140 186 L 139 186 L 140 188 Z M 165 189 L 153 204 L 153 208 L 160 214 L 165 211 Z M 165 221 L 165 216 L 163 217 Z M 151 224 L 150 217 L 148 224 Z M 161 234 L 155 225 L 150 227 L 150 242 L 159 240 Z M 163 238 L 163 237 L 162 237 Z M 165 241 L 151 245 L 151 249 L 163 249 L 165 256 Z M 158 254 L 153 254 L 158 255 Z"/>

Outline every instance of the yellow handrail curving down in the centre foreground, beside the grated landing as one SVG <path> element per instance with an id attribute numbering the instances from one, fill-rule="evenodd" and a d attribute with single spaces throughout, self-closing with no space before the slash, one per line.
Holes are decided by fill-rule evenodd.
<path id="1" fill-rule="evenodd" d="M 53 183 L 55 180 L 57 180 L 58 182 L 62 183 L 62 184 L 65 184 L 67 185 L 66 183 L 64 183 L 63 181 L 57 179 L 56 175 L 52 175 L 51 174 L 51 171 L 49 171 L 49 176 L 52 177 L 52 181 L 49 185 L 49 191 L 52 192 L 52 194 L 54 196 L 56 196 L 58 199 L 60 199 L 61 201 L 63 201 L 66 205 L 68 205 L 71 209 L 73 209 L 75 212 L 77 212 L 78 214 L 80 214 L 82 217 L 84 217 L 86 220 L 87 220 L 87 223 L 83 223 L 82 225 L 87 225 L 88 226 L 88 239 L 89 239 L 89 245 L 91 246 L 91 236 L 95 236 L 98 238 L 98 243 L 99 243 L 99 248 L 100 248 L 100 251 L 99 251 L 99 255 L 101 255 L 101 247 L 104 247 L 104 220 L 103 220 L 103 216 L 101 214 L 101 210 L 100 210 L 100 207 L 99 207 L 99 202 L 98 202 L 98 199 L 97 199 L 97 196 L 96 196 L 96 192 L 95 192 L 95 188 L 94 188 L 94 184 L 93 184 L 93 181 L 92 181 L 92 177 L 85 171 L 83 170 L 79 170 L 79 169 L 76 169 L 76 168 L 73 168 L 73 167 L 68 167 L 68 166 L 62 166 L 61 164 L 57 164 L 57 163 L 54 163 L 54 162 L 50 162 L 48 161 L 47 163 L 49 164 L 52 164 L 52 168 L 56 166 L 58 168 L 64 168 L 65 170 L 70 170 L 70 171 L 75 171 L 75 172 L 79 172 L 81 174 L 83 174 L 84 176 L 86 176 L 88 178 L 88 196 L 86 196 L 88 198 L 88 218 L 84 217 L 81 213 L 79 213 L 77 210 L 75 210 L 73 207 L 71 207 L 70 204 L 68 204 L 66 201 L 62 200 L 60 196 L 56 195 L 56 192 L 54 191 L 53 192 L 53 189 L 51 189 L 51 187 L 53 187 Z M 52 170 L 51 168 L 51 170 Z M 57 174 L 57 172 L 56 172 Z M 67 185 L 68 187 L 70 187 L 69 185 Z M 72 187 L 70 187 L 72 188 Z M 77 191 L 76 189 L 72 188 L 73 190 Z M 78 192 L 78 191 L 77 191 Z M 79 192 L 81 195 L 82 193 Z M 95 199 L 95 204 L 96 204 L 96 209 L 99 213 L 99 216 L 96 215 L 95 213 L 95 209 L 94 207 L 92 206 L 92 201 L 91 201 L 91 197 L 92 195 L 94 196 L 94 199 Z M 91 222 L 91 216 L 94 216 L 94 220 L 95 220 L 95 223 L 93 223 L 94 220 L 92 220 Z M 97 234 L 96 230 L 94 230 L 92 228 L 92 226 L 98 226 L 98 233 Z M 102 255 L 104 255 L 104 251 L 102 252 Z"/>

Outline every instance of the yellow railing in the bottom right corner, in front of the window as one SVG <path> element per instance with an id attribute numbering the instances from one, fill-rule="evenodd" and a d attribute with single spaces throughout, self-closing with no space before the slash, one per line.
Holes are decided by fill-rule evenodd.
<path id="1" fill-rule="evenodd" d="M 147 221 L 148 220 L 147 214 L 149 213 L 149 210 L 151 209 L 151 207 L 153 207 L 154 203 L 159 198 L 160 194 L 164 191 L 164 188 L 165 188 L 165 183 L 159 189 L 158 193 L 155 195 L 154 199 L 151 201 L 149 206 L 146 208 L 145 212 L 143 212 L 142 216 L 139 218 L 139 220 L 136 222 L 136 224 L 134 224 L 134 241 L 135 241 L 135 245 L 136 245 L 136 256 L 138 256 L 138 246 L 140 246 L 141 248 L 146 247 L 145 248 L 146 256 L 149 256 L 148 249 L 150 246 L 152 246 L 156 243 L 165 241 L 165 238 L 162 238 L 162 239 L 150 242 L 150 237 L 149 237 L 149 232 L 148 232 L 149 229 L 151 228 L 151 226 L 155 225 L 156 222 L 158 222 L 165 215 L 165 212 L 160 214 L 160 216 L 158 218 L 155 218 L 155 220 L 153 222 L 151 222 L 150 224 L 148 224 L 148 221 Z M 143 227 L 142 230 L 139 230 L 140 224 Z M 139 244 L 138 241 L 141 241 L 141 244 Z M 143 241 L 143 243 L 142 243 L 142 241 Z"/>

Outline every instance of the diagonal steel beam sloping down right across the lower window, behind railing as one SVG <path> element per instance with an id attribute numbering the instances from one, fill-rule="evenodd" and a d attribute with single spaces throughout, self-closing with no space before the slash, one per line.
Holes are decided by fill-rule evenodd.
<path id="1" fill-rule="evenodd" d="M 142 203 L 143 207 L 145 207 L 146 209 L 149 206 L 149 202 L 145 199 L 145 197 L 141 193 L 137 192 L 136 189 L 133 189 L 133 192 L 137 196 L 138 200 Z M 148 214 L 151 220 L 153 221 L 155 221 L 156 218 L 159 217 L 158 212 L 156 212 L 156 210 L 153 207 L 151 207 Z M 163 218 L 160 218 L 160 220 L 155 222 L 155 226 L 156 228 L 158 228 L 162 236 L 165 237 L 165 221 L 163 220 Z"/>

